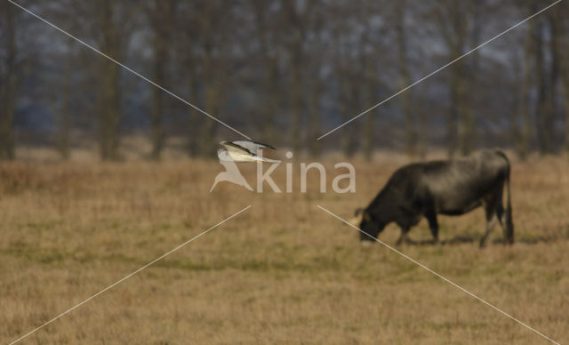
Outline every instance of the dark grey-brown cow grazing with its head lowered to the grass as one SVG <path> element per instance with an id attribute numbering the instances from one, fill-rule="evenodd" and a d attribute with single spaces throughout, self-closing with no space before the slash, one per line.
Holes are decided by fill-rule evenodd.
<path id="1" fill-rule="evenodd" d="M 507 210 L 502 206 L 506 184 Z M 485 246 L 496 221 L 504 230 L 504 244 L 514 243 L 514 225 L 509 195 L 509 160 L 500 150 L 483 150 L 448 161 L 408 164 L 389 178 L 365 209 L 350 221 L 364 233 L 362 244 L 370 244 L 390 222 L 401 228 L 401 244 L 409 230 L 424 216 L 438 244 L 437 214 L 459 215 L 484 206 L 486 233 L 480 240 Z M 505 216 L 502 218 L 502 216 Z"/>

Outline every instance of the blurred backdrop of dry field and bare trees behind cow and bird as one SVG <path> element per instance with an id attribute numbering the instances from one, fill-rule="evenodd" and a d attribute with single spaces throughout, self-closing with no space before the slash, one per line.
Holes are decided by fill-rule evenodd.
<path id="1" fill-rule="evenodd" d="M 26 340 L 541 341 L 317 208 L 349 219 L 400 165 L 489 147 L 512 161 L 516 245 L 495 229 L 479 250 L 479 209 L 439 217 L 443 246 L 421 221 L 399 249 L 569 343 L 569 0 L 321 140 L 556 0 L 14 1 L 276 157 L 321 156 L 329 192 L 312 169 L 301 193 L 287 163 L 271 175 L 284 193 L 210 193 L 217 143 L 239 134 L 0 0 L 0 343 L 64 310 Z M 341 195 L 346 156 L 357 193 Z M 239 167 L 253 187 L 255 165 Z"/>

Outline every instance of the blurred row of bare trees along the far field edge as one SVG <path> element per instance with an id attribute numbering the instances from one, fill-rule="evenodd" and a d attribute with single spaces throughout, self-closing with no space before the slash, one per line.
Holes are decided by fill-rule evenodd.
<path id="1" fill-rule="evenodd" d="M 561 2 L 356 121 L 317 138 L 552 1 L 20 0 L 206 113 L 276 146 L 370 156 L 479 147 L 569 151 L 569 5 Z M 239 135 L 8 1 L 0 4 L 0 158 L 67 157 L 148 133 L 213 156 Z"/>

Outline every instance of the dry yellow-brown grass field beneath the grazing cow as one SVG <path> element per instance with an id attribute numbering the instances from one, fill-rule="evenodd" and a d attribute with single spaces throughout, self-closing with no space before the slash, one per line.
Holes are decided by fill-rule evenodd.
<path id="1" fill-rule="evenodd" d="M 215 161 L 1 164 L 0 341 L 252 205 L 21 343 L 548 343 L 388 248 L 361 247 L 357 230 L 317 208 L 349 218 L 403 162 L 356 163 L 357 193 L 343 195 L 319 193 L 316 174 L 306 194 L 228 183 L 209 193 Z M 497 227 L 478 248 L 478 209 L 440 217 L 444 245 L 400 250 L 569 342 L 569 162 L 514 163 L 512 196 L 513 246 Z M 398 236 L 389 226 L 380 238 Z M 410 237 L 427 242 L 427 223 Z"/>

